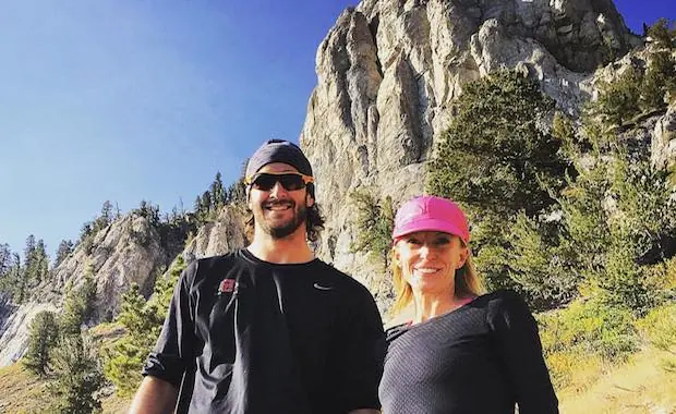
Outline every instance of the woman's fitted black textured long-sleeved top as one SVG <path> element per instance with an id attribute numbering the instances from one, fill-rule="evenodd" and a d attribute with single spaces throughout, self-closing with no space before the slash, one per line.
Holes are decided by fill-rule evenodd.
<path id="1" fill-rule="evenodd" d="M 387 330 L 387 414 L 555 414 L 538 325 L 511 291 L 476 297 L 422 324 Z"/>

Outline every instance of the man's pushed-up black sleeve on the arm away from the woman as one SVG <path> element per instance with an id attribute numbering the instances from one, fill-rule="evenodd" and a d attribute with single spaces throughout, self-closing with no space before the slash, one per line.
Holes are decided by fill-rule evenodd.
<path id="1" fill-rule="evenodd" d="M 149 375 L 180 387 L 183 374 L 193 361 L 195 344 L 194 320 L 190 308 L 190 287 L 197 270 L 197 261 L 181 273 L 173 289 L 167 317 L 157 344 L 143 367 Z"/>

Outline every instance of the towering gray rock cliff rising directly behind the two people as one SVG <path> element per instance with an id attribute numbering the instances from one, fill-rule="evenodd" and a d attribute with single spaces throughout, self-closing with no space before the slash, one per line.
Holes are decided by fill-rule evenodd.
<path id="1" fill-rule="evenodd" d="M 637 45 L 611 0 L 364 0 L 345 11 L 317 50 L 300 137 L 327 217 L 319 256 L 378 291 L 377 269 L 350 253 L 349 194 L 422 193 L 463 83 L 519 69 L 576 114 L 591 71 Z"/>

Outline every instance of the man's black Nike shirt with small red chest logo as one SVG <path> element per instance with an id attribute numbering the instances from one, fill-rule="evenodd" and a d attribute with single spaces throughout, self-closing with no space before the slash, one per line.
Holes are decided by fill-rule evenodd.
<path id="1" fill-rule="evenodd" d="M 179 412 L 347 413 L 379 407 L 384 353 L 359 282 L 241 249 L 185 269 L 144 375 L 181 387 Z"/>

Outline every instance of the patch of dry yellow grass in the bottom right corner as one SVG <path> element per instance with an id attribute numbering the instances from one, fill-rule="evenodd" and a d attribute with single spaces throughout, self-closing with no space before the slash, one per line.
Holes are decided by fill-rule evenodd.
<path id="1" fill-rule="evenodd" d="M 571 385 L 558 392 L 563 414 L 676 414 L 676 373 L 661 363 L 655 349 L 632 355 L 588 387 Z"/>

